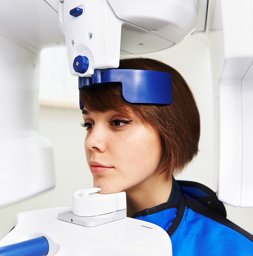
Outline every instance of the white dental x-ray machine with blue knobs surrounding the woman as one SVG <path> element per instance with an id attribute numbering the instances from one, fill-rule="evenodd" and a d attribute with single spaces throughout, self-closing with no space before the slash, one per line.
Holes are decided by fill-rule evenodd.
<path id="1" fill-rule="evenodd" d="M 34 1 L 26 1 L 27 13 L 37 15 Z M 1 8 L 1 25 L 9 15 L 23 11 L 18 8 L 20 1 L 14 2 L 13 8 Z M 230 205 L 253 206 L 249 196 L 253 193 L 250 184 L 253 178 L 250 0 L 210 0 L 209 5 L 206 0 L 46 2 L 47 8 L 58 13 L 60 29 L 65 33 L 70 72 L 79 77 L 79 90 L 93 83 L 95 74 L 100 74 L 94 69 L 117 68 L 120 50 L 131 54 L 158 51 L 178 44 L 194 30 L 204 31 L 208 7 L 210 50 L 220 49 L 220 59 L 212 60 L 216 67 L 213 79 L 219 82 L 220 88 L 218 197 Z M 235 12 L 237 19 L 234 19 Z M 29 27 L 32 21 L 28 16 L 22 22 Z M 37 24 L 37 30 L 43 31 L 45 19 Z M 48 31 L 50 26 L 45 33 Z M 235 36 L 235 31 L 239 36 Z M 50 143 L 38 134 L 38 88 L 34 87 L 33 72 L 38 59 L 30 54 L 48 42 L 44 42 L 43 37 L 38 40 L 26 29 L 18 30 L 13 23 L 6 24 L 0 32 L 3 80 L 0 86 L 0 195 L 5 195 L 0 197 L 0 207 L 3 207 L 51 189 L 55 181 Z M 52 33 L 53 40 L 55 36 L 61 37 L 58 31 Z M 100 82 L 103 83 L 103 79 Z M 18 97 L 13 100 L 13 95 Z M 0 241 L 0 246 L 6 246 L 4 250 L 8 253 L 30 251 L 23 255 L 79 255 L 80 251 L 87 255 L 171 255 L 170 239 L 164 230 L 126 218 L 124 192 L 101 195 L 98 191 L 99 188 L 78 190 L 73 195 L 72 208 L 19 214 L 16 227 Z M 16 244 L 8 246 L 13 243 Z"/>

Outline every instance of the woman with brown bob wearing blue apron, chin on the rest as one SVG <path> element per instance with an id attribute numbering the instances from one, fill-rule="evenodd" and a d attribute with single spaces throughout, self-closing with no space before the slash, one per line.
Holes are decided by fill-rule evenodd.
<path id="1" fill-rule="evenodd" d="M 128 216 L 164 228 L 173 255 L 253 255 L 253 236 L 224 217 L 213 192 L 173 178 L 197 154 L 200 137 L 198 108 L 183 77 L 152 59 L 125 59 L 119 69 L 170 73 L 173 103 L 129 103 L 119 82 L 83 90 L 94 186 L 102 193 L 125 191 Z"/>

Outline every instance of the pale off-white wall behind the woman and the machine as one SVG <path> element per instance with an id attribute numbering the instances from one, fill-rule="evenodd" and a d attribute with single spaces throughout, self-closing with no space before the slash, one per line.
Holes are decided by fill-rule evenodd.
<path id="1" fill-rule="evenodd" d="M 191 35 L 178 46 L 145 56 L 164 61 L 178 69 L 192 88 L 200 110 L 200 152 L 193 163 L 177 178 L 203 183 L 215 191 L 218 166 L 217 88 L 212 86 L 206 35 L 204 33 Z M 62 74 L 55 74 L 56 77 L 69 74 L 65 72 L 65 68 L 63 70 Z M 74 90 L 78 90 L 77 79 L 74 83 Z M 48 85 L 53 86 L 53 84 Z M 58 90 L 51 94 L 56 94 Z M 42 96 L 43 104 L 50 104 L 52 98 L 47 100 L 46 93 Z M 56 97 L 56 95 L 53 96 Z M 17 212 L 45 207 L 71 206 L 72 194 L 75 190 L 92 187 L 92 176 L 86 164 L 83 148 L 85 131 L 80 127 L 82 116 L 78 110 L 78 99 L 75 97 L 70 99 L 61 92 L 60 100 L 57 97 L 55 102 L 58 107 L 41 106 L 39 130 L 42 135 L 52 141 L 54 146 L 56 187 L 50 192 L 44 192 L 42 195 L 0 210 L 0 238 L 13 227 Z M 253 233 L 253 222 L 250 218 L 253 208 L 227 207 L 227 210 L 230 220 Z"/>

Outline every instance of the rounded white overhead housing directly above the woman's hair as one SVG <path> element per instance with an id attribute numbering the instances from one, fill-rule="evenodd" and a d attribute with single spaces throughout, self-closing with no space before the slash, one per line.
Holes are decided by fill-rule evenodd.
<path id="1" fill-rule="evenodd" d="M 126 48 L 130 53 L 156 51 L 158 36 L 167 39 L 164 40 L 167 41 L 164 48 L 178 44 L 193 32 L 198 23 L 198 0 L 108 0 L 108 2 L 120 19 L 154 34 L 150 35 L 150 49 L 145 51 L 148 40 L 145 40 L 143 42 L 145 44 L 140 45 L 138 49 L 137 46 L 133 49 L 134 46 L 129 43 L 133 40 L 134 34 L 127 38 L 122 33 L 124 39 L 121 39 L 123 46 L 121 50 L 124 51 Z M 142 33 L 144 31 L 140 31 L 138 36 L 135 35 L 135 39 L 140 40 Z M 142 47 L 144 49 L 141 49 Z"/>

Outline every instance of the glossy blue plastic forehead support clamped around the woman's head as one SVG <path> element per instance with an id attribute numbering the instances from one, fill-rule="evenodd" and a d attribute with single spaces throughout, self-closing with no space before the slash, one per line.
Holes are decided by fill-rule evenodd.
<path id="1" fill-rule="evenodd" d="M 130 103 L 172 103 L 172 78 L 169 73 L 139 69 L 95 69 L 92 77 L 79 77 L 78 89 L 121 82 L 122 94 Z M 80 109 L 83 105 L 80 100 Z"/>

